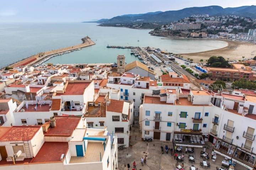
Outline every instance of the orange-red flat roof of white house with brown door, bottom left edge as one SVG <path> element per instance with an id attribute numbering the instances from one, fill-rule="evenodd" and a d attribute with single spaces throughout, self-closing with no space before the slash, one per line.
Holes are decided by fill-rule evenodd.
<path id="1" fill-rule="evenodd" d="M 8 131 L 6 130 L 0 141 L 22 141 L 23 134 L 25 137 L 28 135 L 28 140 L 31 140 L 40 128 L 41 126 L 12 126 Z"/>

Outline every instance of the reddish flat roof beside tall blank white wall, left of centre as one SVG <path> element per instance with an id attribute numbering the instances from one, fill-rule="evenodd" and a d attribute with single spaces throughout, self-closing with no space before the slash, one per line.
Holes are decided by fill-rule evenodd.
<path id="1" fill-rule="evenodd" d="M 68 83 L 66 90 L 60 95 L 83 95 L 84 90 L 91 84 L 91 82 Z"/>

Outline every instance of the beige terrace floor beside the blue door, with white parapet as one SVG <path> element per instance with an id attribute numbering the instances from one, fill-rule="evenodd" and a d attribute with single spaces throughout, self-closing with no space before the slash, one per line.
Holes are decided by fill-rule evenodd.
<path id="1" fill-rule="evenodd" d="M 84 157 L 71 157 L 69 163 L 101 162 L 104 154 L 102 142 L 88 142 Z M 101 159 L 100 159 L 101 155 Z"/>

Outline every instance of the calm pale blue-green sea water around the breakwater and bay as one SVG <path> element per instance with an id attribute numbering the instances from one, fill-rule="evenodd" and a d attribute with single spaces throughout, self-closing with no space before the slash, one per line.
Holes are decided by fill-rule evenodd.
<path id="1" fill-rule="evenodd" d="M 150 30 L 99 27 L 96 23 L 12 23 L 0 24 L 0 67 L 38 52 L 81 43 L 88 35 L 96 45 L 57 56 L 48 63 L 108 63 L 118 54 L 126 55 L 126 62 L 137 58 L 129 49 L 108 49 L 107 45 L 151 46 L 173 53 L 191 53 L 219 49 L 223 41 L 194 39 L 161 39 L 148 34 Z M 137 41 L 139 40 L 139 42 Z"/>

